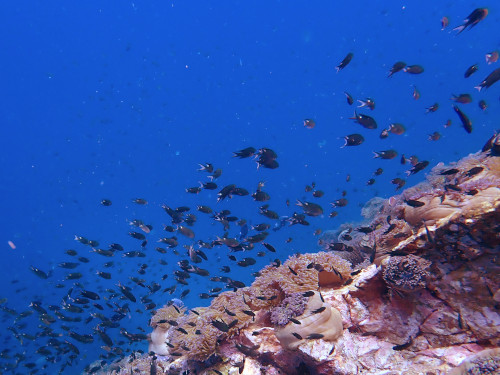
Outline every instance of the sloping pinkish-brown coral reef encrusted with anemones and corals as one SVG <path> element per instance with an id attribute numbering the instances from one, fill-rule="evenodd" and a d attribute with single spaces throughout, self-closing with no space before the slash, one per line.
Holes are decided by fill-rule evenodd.
<path id="1" fill-rule="evenodd" d="M 172 310 L 158 310 L 151 325 L 166 330 L 165 355 L 124 359 L 108 373 L 498 373 L 495 147 L 436 166 L 351 239 L 325 240 L 328 252 L 267 266 L 250 287 L 182 311 L 174 325 L 162 318 Z"/>

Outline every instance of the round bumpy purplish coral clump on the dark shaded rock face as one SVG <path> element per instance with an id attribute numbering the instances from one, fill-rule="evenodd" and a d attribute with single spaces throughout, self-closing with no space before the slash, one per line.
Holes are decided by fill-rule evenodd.
<path id="1" fill-rule="evenodd" d="M 431 262 L 415 255 L 393 256 L 383 264 L 383 278 L 391 288 L 413 292 L 425 288 Z"/>

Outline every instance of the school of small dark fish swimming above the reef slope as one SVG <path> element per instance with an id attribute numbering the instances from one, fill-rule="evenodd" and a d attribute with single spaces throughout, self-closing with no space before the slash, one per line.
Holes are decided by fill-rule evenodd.
<path id="1" fill-rule="evenodd" d="M 460 34 L 464 30 L 476 26 L 488 15 L 486 9 L 474 10 L 465 20 L 463 25 L 454 30 Z M 448 26 L 448 20 L 442 20 L 442 27 Z M 336 66 L 338 74 L 342 70 L 349 69 L 349 64 L 355 59 L 352 52 L 349 52 Z M 488 62 L 491 61 L 488 60 Z M 468 79 L 479 70 L 477 64 L 471 65 L 464 73 L 463 79 Z M 409 75 L 425 74 L 425 69 L 419 64 L 408 65 L 404 61 L 391 63 L 388 77 L 396 74 L 407 73 Z M 476 88 L 481 91 L 487 89 L 500 80 L 500 68 L 493 70 L 481 81 Z M 413 99 L 420 98 L 420 92 L 414 86 Z M 355 99 L 345 91 L 347 105 L 353 105 Z M 409 97 L 409 99 L 411 99 Z M 458 116 L 465 133 L 473 131 L 473 124 L 466 115 L 462 107 L 473 101 L 468 93 L 453 94 L 453 111 Z M 375 99 L 368 97 L 358 100 L 358 109 L 376 113 Z M 486 102 L 480 101 L 481 109 L 486 109 Z M 439 103 L 433 103 L 427 108 L 427 112 L 432 116 L 433 112 L 440 109 Z M 361 128 L 370 132 L 378 128 L 375 115 L 354 111 L 353 120 Z M 317 126 L 313 119 L 304 119 L 303 125 L 307 129 Z M 357 125 L 356 125 L 357 126 Z M 361 128 L 359 131 L 361 131 Z M 399 123 L 391 123 L 382 130 L 380 139 L 389 136 L 397 136 L 405 133 L 405 126 Z M 314 130 L 311 130 L 314 131 Z M 356 131 L 356 130 L 354 130 Z M 369 135 L 352 133 L 344 137 L 345 144 L 342 147 L 360 146 Z M 376 137 L 373 135 L 373 137 Z M 441 134 L 438 131 L 428 135 L 429 140 L 438 141 Z M 383 141 L 381 141 L 383 142 Z M 408 176 L 425 170 L 429 166 L 429 161 L 419 160 L 418 156 L 406 157 L 401 152 L 394 149 L 373 150 L 374 158 L 378 158 L 381 163 L 400 162 L 408 164 L 406 174 Z M 406 153 L 408 154 L 408 153 Z M 228 154 L 228 157 L 230 155 Z M 269 147 L 255 148 L 248 146 L 233 152 L 233 158 L 250 159 L 256 163 L 257 168 L 278 169 L 279 150 Z M 247 161 L 241 161 L 244 163 Z M 373 185 L 376 179 L 383 174 L 383 168 L 376 169 L 372 175 L 367 176 L 367 185 Z M 450 174 L 452 171 L 448 171 Z M 197 186 L 186 186 L 185 194 L 203 194 L 204 191 L 216 192 L 216 198 L 206 202 L 204 205 L 178 206 L 172 207 L 168 203 L 161 206 L 165 213 L 165 220 L 169 223 L 163 228 L 158 225 L 146 223 L 140 218 L 129 222 L 128 236 L 137 240 L 137 247 L 126 249 L 119 243 L 109 243 L 101 245 L 98 241 L 88 239 L 84 236 L 75 236 L 78 245 L 76 249 L 65 251 L 65 258 L 57 265 L 58 268 L 66 270 L 64 280 L 53 282 L 53 270 L 42 270 L 37 266 L 31 266 L 31 271 L 42 283 L 53 287 L 59 292 L 59 304 L 46 304 L 43 298 L 34 298 L 27 303 L 26 309 L 16 311 L 7 306 L 6 300 L 1 300 L 0 308 L 5 319 L 13 319 L 13 324 L 9 327 L 11 337 L 23 347 L 26 343 L 31 343 L 30 348 L 35 347 L 32 354 L 25 350 L 16 350 L 9 345 L 1 351 L 0 372 L 11 373 L 46 373 L 48 366 L 57 365 L 59 373 L 66 373 L 71 366 L 78 363 L 83 347 L 97 345 L 102 348 L 100 355 L 101 362 L 98 365 L 87 366 L 87 373 L 97 372 L 102 366 L 130 354 L 134 349 L 139 349 L 141 343 L 147 340 L 147 332 L 143 327 L 137 327 L 135 332 L 129 332 L 122 326 L 122 320 L 129 319 L 134 314 L 151 315 L 156 308 L 161 307 L 168 299 L 177 298 L 182 300 L 191 291 L 190 283 L 194 275 L 202 279 L 202 283 L 207 285 L 206 292 L 199 294 L 200 299 L 211 299 L 224 290 L 235 290 L 245 286 L 245 283 L 237 278 L 240 268 L 249 267 L 256 264 L 255 257 L 271 256 L 278 257 L 279 246 L 273 243 L 273 232 L 288 226 L 304 226 L 311 234 L 319 235 L 321 229 L 307 229 L 313 220 L 318 217 L 337 217 L 339 208 L 348 205 L 347 191 L 343 191 L 341 196 L 328 197 L 324 190 L 317 188 L 315 183 L 305 186 L 304 197 L 290 197 L 283 204 L 273 202 L 269 191 L 265 190 L 263 182 L 258 183 L 254 189 L 240 186 L 237 181 L 220 184 L 219 181 L 225 178 L 222 168 L 217 168 L 210 162 L 199 164 L 198 172 L 204 174 L 205 182 L 200 182 Z M 276 172 L 279 173 L 279 172 Z M 471 170 L 469 173 L 478 173 Z M 346 181 L 349 181 L 347 176 Z M 400 177 L 390 179 L 395 189 L 399 190 L 406 184 L 406 180 Z M 100 201 L 103 209 L 113 209 L 113 197 L 106 197 Z M 229 209 L 218 210 L 217 203 L 231 199 L 249 199 L 257 204 L 257 211 L 262 217 L 260 223 L 249 223 L 244 217 L 237 217 Z M 290 202 L 295 201 L 295 205 Z M 328 205 L 324 202 L 328 201 Z M 139 206 L 148 205 L 145 198 L 133 198 L 132 203 Z M 418 200 L 408 199 L 405 204 L 412 207 L 423 205 Z M 332 211 L 327 212 L 326 207 L 331 206 Z M 286 210 L 287 214 L 283 214 Z M 292 212 L 290 212 L 292 210 Z M 196 234 L 197 215 L 208 215 L 213 225 L 213 238 L 200 238 Z M 388 223 L 390 220 L 388 219 Z M 368 233 L 371 228 L 358 228 Z M 238 233 L 237 235 L 230 233 Z M 350 234 L 343 233 L 343 241 L 349 241 Z M 289 238 L 287 242 L 292 241 Z M 343 244 L 342 244 L 343 245 Z M 345 246 L 345 245 L 344 245 Z M 214 275 L 208 269 L 202 268 L 203 262 L 211 257 L 214 248 L 224 249 L 227 253 L 227 260 L 220 260 L 219 275 Z M 90 255 L 83 256 L 82 253 Z M 252 256 L 251 252 L 255 252 Z M 159 262 L 148 261 L 151 253 L 165 255 Z M 240 256 L 240 254 L 244 254 Z M 136 262 L 137 275 L 123 275 L 119 271 L 119 262 Z M 148 278 L 152 269 L 158 270 L 168 262 L 175 262 L 177 267 L 172 273 L 164 274 L 161 281 Z M 280 264 L 282 260 L 274 259 L 275 264 Z M 95 275 L 88 275 L 80 272 L 79 268 L 85 263 L 92 263 L 97 266 Z M 233 276 L 234 275 L 234 276 Z M 85 286 L 84 280 L 88 277 L 102 279 L 102 287 L 89 290 Z M 52 281 L 52 282 L 51 282 Z M 14 281 L 13 283 L 17 283 Z M 50 282 L 50 284 L 49 284 Z M 95 282 L 95 280 L 94 280 Z M 217 284 L 218 286 L 214 286 Z M 168 297 L 167 297 L 168 296 Z M 324 309 L 324 308 L 323 308 Z M 320 312 L 320 311 L 318 311 Z M 245 314 L 253 314 L 251 311 L 243 311 Z M 33 325 L 28 324 L 28 319 L 35 320 L 38 324 L 36 333 L 27 333 L 26 328 Z M 175 325 L 175 321 L 169 322 Z M 212 324 L 227 332 L 230 328 L 228 324 L 221 321 L 213 321 Z M 299 337 L 300 338 L 300 337 Z M 310 335 L 307 339 L 315 339 L 319 336 Z M 145 344 L 144 344 L 145 345 Z M 402 344 L 394 350 L 400 350 L 407 344 Z M 240 347 L 243 351 L 245 347 Z M 43 361 L 40 362 L 39 359 Z M 86 359 L 87 361 L 89 359 Z"/>

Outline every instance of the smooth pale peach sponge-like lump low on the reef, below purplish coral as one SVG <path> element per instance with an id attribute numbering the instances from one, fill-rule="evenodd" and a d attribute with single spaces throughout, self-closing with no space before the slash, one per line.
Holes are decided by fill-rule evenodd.
<path id="1" fill-rule="evenodd" d="M 285 349 L 294 350 L 306 340 L 335 341 L 342 336 L 340 312 L 325 303 L 318 292 L 310 291 L 310 294 L 302 315 L 297 316 L 295 321 L 289 321 L 285 326 L 277 326 L 274 330 L 274 334 Z"/>

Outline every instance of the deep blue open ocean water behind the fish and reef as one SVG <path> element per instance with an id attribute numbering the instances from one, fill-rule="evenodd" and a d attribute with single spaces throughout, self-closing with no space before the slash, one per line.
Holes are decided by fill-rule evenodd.
<path id="1" fill-rule="evenodd" d="M 489 14 L 477 26 L 460 35 L 452 31 L 475 8 L 487 7 Z M 30 310 L 32 301 L 42 306 L 60 305 L 70 288 L 76 296 L 79 286 L 99 292 L 116 285 L 132 287 L 137 297 L 148 289 L 129 280 L 140 277 L 164 288 L 176 285 L 173 272 L 177 262 L 187 259 L 182 245 L 197 240 L 212 241 L 224 235 L 220 223 L 195 211 L 196 205 L 214 210 L 231 210 L 250 224 L 275 221 L 259 215 L 251 197 L 226 199 L 216 203 L 217 191 L 236 184 L 251 193 L 259 181 L 271 196 L 269 208 L 282 216 L 301 212 L 297 199 L 321 204 L 320 217 L 308 217 L 309 226 L 285 227 L 269 231 L 266 239 L 277 249 L 256 257 L 252 252 L 234 253 L 238 260 L 251 256 L 253 266 L 239 267 L 228 259 L 227 247 L 206 250 L 207 261 L 199 264 L 211 276 L 224 275 L 249 285 L 252 273 L 278 258 L 284 261 L 296 252 L 317 251 L 317 229 L 335 229 L 360 219 L 361 207 L 372 197 L 395 193 L 391 180 L 406 178 L 407 165 L 400 155 L 417 155 L 430 166 L 457 160 L 479 150 L 498 128 L 499 87 L 477 92 L 477 86 L 498 63 L 485 61 L 485 54 L 500 49 L 496 25 L 500 7 L 495 1 L 386 1 L 377 2 L 10 2 L 0 14 L 2 35 L 2 123 L 1 155 L 1 238 L 3 261 L 3 328 L 0 338 L 1 367 L 12 373 L 28 373 L 25 363 L 41 368 L 45 357 L 35 353 L 47 345 L 42 332 L 60 335 L 77 345 L 80 355 L 65 373 L 78 373 L 89 362 L 105 354 L 104 343 L 81 344 L 68 338 L 62 325 L 80 334 L 92 333 L 96 319 L 85 323 L 92 306 L 85 309 L 79 323 L 43 323 L 34 313 L 15 321 Z M 450 25 L 441 30 L 441 18 Z M 336 72 L 348 54 L 353 59 Z M 396 61 L 422 65 L 423 74 L 396 73 L 387 78 Z M 465 70 L 478 64 L 479 70 L 464 78 Z M 416 85 L 419 100 L 412 97 Z M 355 99 L 371 97 L 376 108 L 360 113 L 373 116 L 378 129 L 364 129 L 354 123 L 355 106 L 346 103 L 344 91 Z M 459 105 L 473 122 L 467 134 L 450 101 L 452 94 L 469 93 L 470 104 Z M 488 103 L 478 107 L 480 99 Z M 438 102 L 434 113 L 426 108 Z M 306 118 L 316 126 L 307 129 Z M 443 125 L 448 119 L 452 125 Z M 406 126 L 403 135 L 380 139 L 382 129 L 392 122 Z M 442 137 L 429 141 L 438 131 Z M 341 148 L 344 136 L 360 133 L 365 142 Z M 252 159 L 232 157 L 234 151 L 253 146 L 267 147 L 277 154 L 279 168 L 257 169 Z M 374 151 L 395 149 L 393 160 L 373 158 Z M 197 171 L 199 163 L 213 163 L 222 169 L 215 182 L 218 190 L 197 195 L 185 189 L 206 182 L 207 173 Z M 383 168 L 373 185 L 367 181 Z M 428 169 L 407 179 L 407 186 L 422 181 Z M 346 176 L 350 175 L 349 182 Z M 316 184 L 322 198 L 306 193 L 306 185 Z M 329 218 L 330 202 L 346 191 L 349 204 Z M 100 204 L 110 199 L 112 205 Z M 148 200 L 145 206 L 132 202 Z M 291 202 L 286 205 L 286 200 Z M 159 238 L 172 234 L 161 208 L 188 206 L 198 221 L 192 227 L 194 240 L 177 234 L 179 255 L 155 251 Z M 131 238 L 134 219 L 153 225 L 148 244 Z M 229 237 L 237 237 L 240 227 L 231 224 Z M 252 232 L 253 233 L 253 232 Z M 100 248 L 120 243 L 125 251 L 141 250 L 145 258 L 126 258 L 116 253 L 105 258 L 74 240 L 75 235 L 97 240 Z M 292 238 L 291 242 L 287 242 Z M 12 249 L 8 241 L 15 245 Z M 65 254 L 74 249 L 89 258 L 75 270 L 58 267 L 73 262 Z M 160 259 L 168 265 L 160 265 Z M 106 268 L 104 263 L 113 261 Z M 145 275 L 137 274 L 147 264 Z M 42 280 L 30 271 L 33 265 L 51 276 Z M 96 270 L 110 272 L 111 280 L 96 276 Z M 69 272 L 81 272 L 79 280 L 65 280 Z M 163 275 L 168 275 L 162 280 Z M 154 293 L 159 306 L 179 298 L 190 289 L 184 302 L 190 306 L 209 304 L 199 298 L 208 289 L 224 287 L 207 277 L 193 275 L 189 285 L 178 285 L 174 294 Z M 57 284 L 63 287 L 57 288 Z M 123 305 L 127 301 L 115 297 Z M 130 312 L 120 326 L 130 332 L 148 331 L 150 312 L 138 301 L 128 301 Z M 105 315 L 113 314 L 105 306 Z M 124 348 L 147 350 L 147 343 L 130 346 L 119 334 L 108 334 Z M 26 335 L 28 336 L 26 336 Z M 30 337 L 32 339 L 30 339 Z M 58 371 L 71 353 L 49 347 L 51 371 Z M 20 359 L 19 354 L 24 356 Z M 17 359 L 16 359 L 16 354 Z M 13 366 L 17 369 L 8 370 Z M 40 370 L 41 373 L 48 370 Z M 48 371 L 50 373 L 50 371 Z"/>

